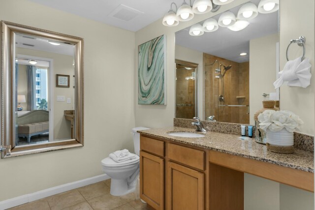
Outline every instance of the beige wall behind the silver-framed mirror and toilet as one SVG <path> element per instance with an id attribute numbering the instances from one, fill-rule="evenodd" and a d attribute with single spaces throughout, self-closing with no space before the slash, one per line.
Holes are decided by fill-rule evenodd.
<path id="1" fill-rule="evenodd" d="M 0 201 L 103 174 L 110 152 L 133 151 L 135 33 L 27 0 L 0 5 L 0 20 L 84 38 L 85 85 L 84 147 L 1 159 Z"/>

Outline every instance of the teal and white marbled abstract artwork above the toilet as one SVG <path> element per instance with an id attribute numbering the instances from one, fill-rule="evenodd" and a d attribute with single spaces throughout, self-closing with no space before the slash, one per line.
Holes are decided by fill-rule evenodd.
<path id="1" fill-rule="evenodd" d="M 138 104 L 166 104 L 165 37 L 138 47 Z"/>

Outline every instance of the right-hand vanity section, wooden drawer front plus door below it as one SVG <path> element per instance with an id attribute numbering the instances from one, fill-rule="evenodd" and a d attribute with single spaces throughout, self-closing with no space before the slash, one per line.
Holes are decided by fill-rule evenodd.
<path id="1" fill-rule="evenodd" d="M 166 209 L 204 210 L 205 152 L 168 143 L 166 157 Z"/>

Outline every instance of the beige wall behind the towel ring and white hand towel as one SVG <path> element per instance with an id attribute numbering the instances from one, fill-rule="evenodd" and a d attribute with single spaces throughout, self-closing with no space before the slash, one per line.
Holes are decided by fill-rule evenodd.
<path id="1" fill-rule="evenodd" d="M 303 3 L 296 6 L 295 0 L 281 0 L 280 2 L 280 69 L 286 63 L 285 52 L 291 39 L 305 36 L 305 57 L 310 59 L 311 85 L 307 88 L 288 87 L 282 85 L 280 88 L 280 108 L 290 110 L 299 115 L 304 121 L 301 132 L 314 135 L 314 112 L 315 112 L 315 75 L 314 75 L 314 12 L 315 1 L 303 0 Z M 289 48 L 289 59 L 300 57 L 302 47 L 292 44 Z M 310 117 L 312 116 L 312 117 Z"/>

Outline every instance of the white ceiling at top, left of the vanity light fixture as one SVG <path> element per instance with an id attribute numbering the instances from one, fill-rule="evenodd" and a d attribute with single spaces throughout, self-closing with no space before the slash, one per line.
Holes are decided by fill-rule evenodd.
<path id="1" fill-rule="evenodd" d="M 52 8 L 63 10 L 78 16 L 99 21 L 122 29 L 137 31 L 163 17 L 170 9 L 172 2 L 181 6 L 183 0 L 30 0 Z M 188 1 L 187 1 L 188 2 Z M 113 17 L 119 12 L 119 5 L 125 5 L 126 15 L 136 15 L 129 21 Z M 128 9 L 132 8 L 132 9 Z M 124 18 L 121 16 L 121 18 Z"/>

